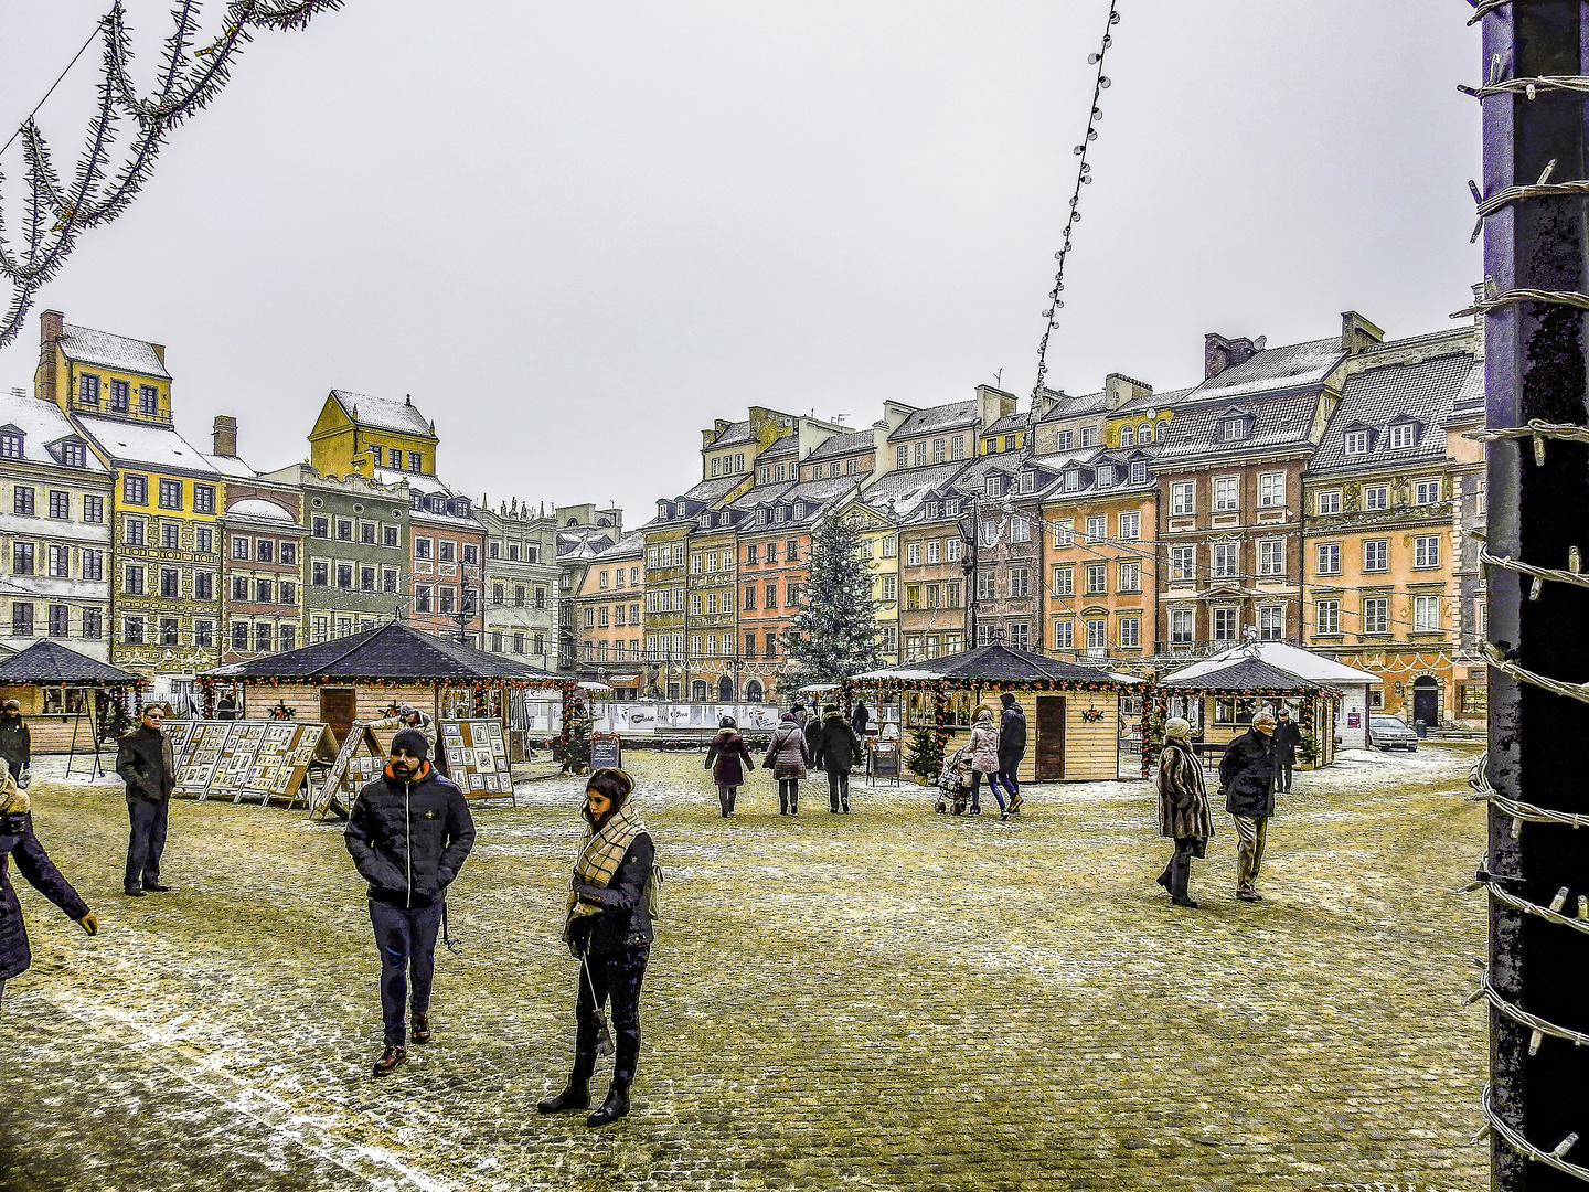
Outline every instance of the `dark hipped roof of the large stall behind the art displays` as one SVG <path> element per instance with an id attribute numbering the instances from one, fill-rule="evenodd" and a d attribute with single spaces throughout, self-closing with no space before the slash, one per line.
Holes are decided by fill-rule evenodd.
<path id="1" fill-rule="evenodd" d="M 211 679 L 507 679 L 566 683 L 566 675 L 515 663 L 400 621 L 207 671 Z"/>

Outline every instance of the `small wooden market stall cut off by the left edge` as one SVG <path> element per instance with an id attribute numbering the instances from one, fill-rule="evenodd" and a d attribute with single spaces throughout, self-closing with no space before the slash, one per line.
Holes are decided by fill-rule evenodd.
<path id="1" fill-rule="evenodd" d="M 132 720 L 129 698 L 143 687 L 141 675 L 49 637 L 0 661 L 0 701 L 22 706 L 35 753 L 97 753 L 110 726 Z"/>

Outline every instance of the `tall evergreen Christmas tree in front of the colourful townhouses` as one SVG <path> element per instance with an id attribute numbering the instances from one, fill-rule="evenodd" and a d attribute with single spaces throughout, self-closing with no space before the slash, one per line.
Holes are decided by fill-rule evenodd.
<path id="1" fill-rule="evenodd" d="M 783 636 L 780 687 L 836 683 L 882 666 L 872 574 L 861 559 L 860 526 L 829 518 L 812 536 L 809 582 Z"/>

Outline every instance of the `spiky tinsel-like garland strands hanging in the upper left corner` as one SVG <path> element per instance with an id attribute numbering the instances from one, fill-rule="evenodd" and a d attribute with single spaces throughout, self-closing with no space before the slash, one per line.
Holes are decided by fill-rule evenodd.
<path id="1" fill-rule="evenodd" d="M 199 35 L 202 0 L 181 0 L 173 11 L 176 29 L 165 40 L 164 65 L 157 91 L 140 95 L 132 83 L 129 64 L 132 40 L 127 32 L 121 0 L 100 17 L 95 35 L 60 73 L 44 99 L 60 84 L 72 65 L 83 56 L 94 37 L 105 41 L 103 79 L 99 106 L 89 121 L 87 145 L 78 159 L 73 181 L 64 184 L 56 168 L 49 143 L 37 124 L 41 99 L 6 141 L 21 137 L 27 162 L 25 229 L 27 248 L 13 253 L 0 237 L 0 275 L 11 283 L 11 302 L 0 319 L 0 346 L 21 331 L 22 319 L 33 305 L 33 296 L 54 278 L 76 245 L 76 238 L 121 215 L 138 189 L 148 181 L 160 146 L 170 130 L 181 124 L 226 86 L 232 62 L 256 30 L 276 32 L 303 29 L 310 17 L 335 10 L 343 0 L 230 0 L 221 32 L 210 45 L 191 51 Z M 195 62 L 189 62 L 189 56 Z M 113 167 L 116 126 L 130 119 L 137 126 L 119 167 Z M 3 175 L 0 175 L 3 181 Z M 0 221 L 3 227 L 3 221 Z"/>

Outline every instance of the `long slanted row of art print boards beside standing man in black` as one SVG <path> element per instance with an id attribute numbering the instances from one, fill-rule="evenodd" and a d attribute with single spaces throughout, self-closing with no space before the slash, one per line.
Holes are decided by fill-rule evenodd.
<path id="1" fill-rule="evenodd" d="M 337 757 L 335 737 L 321 723 L 291 720 L 186 720 L 170 730 L 178 795 L 199 801 L 308 801 L 310 769 Z"/>

